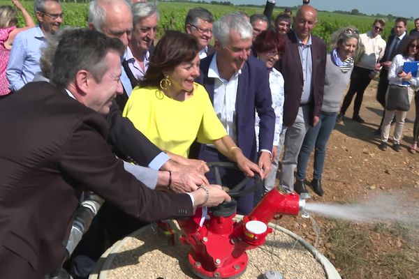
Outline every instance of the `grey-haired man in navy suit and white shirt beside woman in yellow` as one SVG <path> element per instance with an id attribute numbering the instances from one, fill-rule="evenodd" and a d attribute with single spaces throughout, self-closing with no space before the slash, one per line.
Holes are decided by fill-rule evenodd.
<path id="1" fill-rule="evenodd" d="M 228 135 L 244 156 L 258 162 L 264 178 L 270 172 L 275 114 L 266 66 L 250 55 L 252 31 L 249 21 L 239 14 L 225 15 L 214 23 L 216 52 L 201 60 L 201 73 L 196 82 L 205 86 Z M 260 116 L 258 149 L 255 110 Z M 201 146 L 199 158 L 207 162 L 228 161 L 210 145 Z M 228 186 L 244 178 L 241 172 L 224 171 Z M 238 212 L 249 213 L 253 208 L 253 193 L 241 197 L 237 203 Z"/>

